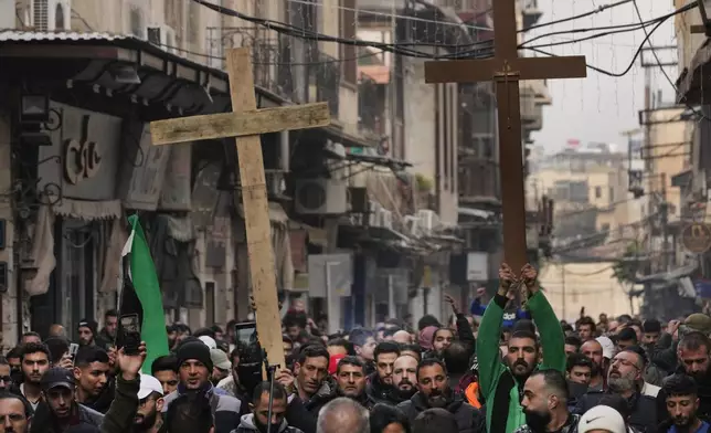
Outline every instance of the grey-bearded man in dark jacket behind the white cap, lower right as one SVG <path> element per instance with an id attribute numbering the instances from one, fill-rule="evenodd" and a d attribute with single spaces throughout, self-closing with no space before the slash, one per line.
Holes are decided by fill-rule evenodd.
<path id="1" fill-rule="evenodd" d="M 655 431 L 657 420 L 657 399 L 645 394 L 643 374 L 647 365 L 645 351 L 639 347 L 629 347 L 615 356 L 607 371 L 607 390 L 590 391 L 579 401 L 575 410 L 582 415 L 599 404 L 607 394 L 617 394 L 629 403 L 629 425 L 639 431 Z M 661 419 L 665 414 L 661 414 Z"/>

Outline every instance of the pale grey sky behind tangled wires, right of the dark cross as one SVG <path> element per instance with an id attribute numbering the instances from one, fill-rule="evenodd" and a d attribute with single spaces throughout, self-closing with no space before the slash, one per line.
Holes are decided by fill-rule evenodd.
<path id="1" fill-rule="evenodd" d="M 617 0 L 538 0 L 539 9 L 543 12 L 539 23 L 564 19 L 581 14 L 601 6 L 615 3 Z M 673 10 L 671 0 L 637 0 L 643 19 L 649 20 L 669 13 Z M 690 11 L 687 13 L 694 13 Z M 543 27 L 527 33 L 532 36 L 571 29 L 586 29 L 606 25 L 629 24 L 639 22 L 633 3 L 595 13 L 566 23 Z M 651 31 L 654 27 L 647 28 Z M 581 39 L 593 33 L 574 33 L 553 35 L 538 40 L 531 44 L 548 44 Z M 627 68 L 635 52 L 645 39 L 644 30 L 618 33 L 573 44 L 553 47 L 541 47 L 556 55 L 585 55 L 588 65 L 620 73 Z M 673 18 L 661 24 L 651 36 L 655 46 L 677 44 L 673 36 Z M 645 47 L 649 45 L 645 44 Z M 530 51 L 522 51 L 533 55 Z M 677 60 L 676 51 L 659 51 L 662 62 Z M 651 53 L 645 53 L 645 61 L 652 62 Z M 666 67 L 669 77 L 678 77 L 676 67 Z M 675 91 L 659 67 L 652 70 L 652 92 L 662 92 L 662 102 L 673 103 Z M 626 142 L 620 133 L 639 127 L 637 113 L 644 108 L 644 68 L 639 59 L 635 67 L 623 77 L 611 77 L 587 70 L 587 77 L 580 80 L 548 81 L 549 92 L 553 104 L 543 108 L 543 129 L 533 133 L 537 146 L 542 146 L 546 154 L 563 149 L 569 139 L 586 142 L 616 144 L 618 149 Z"/>

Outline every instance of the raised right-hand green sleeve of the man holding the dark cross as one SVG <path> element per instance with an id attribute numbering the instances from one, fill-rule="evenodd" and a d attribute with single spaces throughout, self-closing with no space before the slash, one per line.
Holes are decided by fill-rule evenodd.
<path id="1" fill-rule="evenodd" d="M 553 307 L 541 291 L 529 298 L 527 306 L 541 335 L 543 350 L 541 368 L 565 372 L 565 335 Z"/>

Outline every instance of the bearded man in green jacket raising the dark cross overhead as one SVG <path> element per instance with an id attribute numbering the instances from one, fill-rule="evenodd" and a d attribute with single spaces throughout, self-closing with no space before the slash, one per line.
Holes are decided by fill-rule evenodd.
<path id="1" fill-rule="evenodd" d="M 538 273 L 530 264 L 521 270 L 520 278 L 502 263 L 499 268 L 499 291 L 489 303 L 477 339 L 479 360 L 479 389 L 485 399 L 487 431 L 512 433 L 526 424 L 521 408 L 523 384 L 537 367 L 541 351 L 541 369 L 565 371 L 565 336 L 553 308 L 540 292 Z M 519 284 L 520 283 L 520 284 Z M 526 308 L 531 313 L 541 340 L 528 330 L 516 330 L 508 342 L 505 363 L 501 362 L 499 337 L 503 321 L 503 308 L 512 291 L 524 285 L 528 295 Z"/>

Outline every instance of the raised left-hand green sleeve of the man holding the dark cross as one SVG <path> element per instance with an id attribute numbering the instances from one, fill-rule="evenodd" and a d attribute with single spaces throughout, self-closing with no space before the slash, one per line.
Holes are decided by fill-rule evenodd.
<path id="1" fill-rule="evenodd" d="M 496 295 L 487 306 L 479 325 L 477 338 L 477 360 L 479 361 L 479 387 L 487 398 L 503 371 L 499 341 L 501 339 L 501 324 L 503 324 L 503 306 L 506 296 Z"/>

